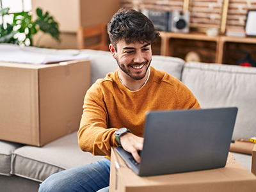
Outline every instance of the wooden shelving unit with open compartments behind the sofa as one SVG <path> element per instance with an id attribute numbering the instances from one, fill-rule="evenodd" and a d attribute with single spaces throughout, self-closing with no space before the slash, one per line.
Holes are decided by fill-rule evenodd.
<path id="1" fill-rule="evenodd" d="M 185 40 L 185 43 L 190 41 L 190 44 L 198 44 L 198 42 L 203 42 L 201 46 L 210 45 L 208 48 L 202 48 L 201 52 L 207 54 L 207 49 L 209 49 L 209 54 L 214 56 L 214 59 L 211 60 L 212 63 L 223 63 L 223 55 L 227 52 L 227 43 L 237 43 L 237 44 L 255 44 L 256 47 L 256 38 L 253 37 L 233 37 L 233 36 L 207 36 L 202 33 L 172 33 L 166 31 L 159 31 L 161 37 L 161 50 L 160 54 L 163 56 L 177 56 L 177 51 L 175 54 L 175 49 L 177 48 L 177 40 Z M 192 43 L 191 43 L 192 42 Z M 189 46 L 189 45 L 188 45 Z M 185 49 L 185 45 L 183 48 Z M 255 50 L 252 50 L 255 51 Z M 179 52 L 179 51 L 178 51 Z M 184 58 L 183 58 L 184 59 Z M 235 63 L 229 63 L 235 64 Z"/>

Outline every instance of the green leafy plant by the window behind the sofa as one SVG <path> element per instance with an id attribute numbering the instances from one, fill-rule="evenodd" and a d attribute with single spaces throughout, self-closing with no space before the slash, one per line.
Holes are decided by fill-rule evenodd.
<path id="1" fill-rule="evenodd" d="M 0 16 L 7 15 L 10 8 L 0 10 Z M 0 43 L 18 44 L 18 45 L 33 45 L 33 35 L 38 31 L 48 33 L 58 42 L 60 40 L 59 24 L 54 18 L 49 15 L 49 12 L 43 13 L 40 8 L 36 9 L 37 18 L 35 21 L 31 19 L 31 12 L 21 12 L 13 14 L 13 23 L 0 25 Z M 18 36 L 23 35 L 23 38 Z"/>

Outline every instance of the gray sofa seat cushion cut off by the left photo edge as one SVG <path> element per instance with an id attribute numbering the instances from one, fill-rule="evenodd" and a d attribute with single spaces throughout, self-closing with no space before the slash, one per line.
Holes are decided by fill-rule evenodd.
<path id="1" fill-rule="evenodd" d="M 22 145 L 8 141 L 0 141 L 0 175 L 11 175 L 12 150 L 18 147 L 22 147 Z"/>

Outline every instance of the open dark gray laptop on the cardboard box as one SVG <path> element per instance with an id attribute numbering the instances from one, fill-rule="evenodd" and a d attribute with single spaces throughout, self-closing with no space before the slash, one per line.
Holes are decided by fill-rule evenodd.
<path id="1" fill-rule="evenodd" d="M 140 176 L 223 168 L 237 108 L 150 111 L 146 115 L 141 163 L 115 148 Z"/>

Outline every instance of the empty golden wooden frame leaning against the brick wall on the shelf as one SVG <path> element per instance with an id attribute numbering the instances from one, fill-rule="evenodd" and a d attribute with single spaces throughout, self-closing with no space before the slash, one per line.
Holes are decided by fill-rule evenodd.
<path id="1" fill-rule="evenodd" d="M 190 12 L 192 12 L 193 7 L 191 6 L 193 0 L 184 0 L 184 10 L 187 8 Z M 222 7 L 221 7 L 221 13 L 220 13 L 220 24 L 216 25 L 216 28 L 218 29 L 220 34 L 224 34 L 226 30 L 226 23 L 227 23 L 227 14 L 228 14 L 228 3 L 229 0 L 223 0 Z M 205 33 L 208 28 L 212 28 L 210 26 L 206 26 L 205 24 L 196 24 L 196 23 L 190 23 L 190 28 L 192 31 L 198 31 Z"/>

